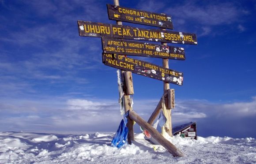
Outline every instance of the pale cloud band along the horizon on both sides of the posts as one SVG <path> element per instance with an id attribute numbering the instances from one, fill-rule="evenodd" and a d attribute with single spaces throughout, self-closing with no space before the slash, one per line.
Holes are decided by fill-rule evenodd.
<path id="1" fill-rule="evenodd" d="M 134 110 L 147 121 L 157 104 L 158 100 L 137 100 Z M 116 131 L 122 119 L 119 104 L 112 100 L 60 97 L 30 101 L 5 100 L 0 102 L 0 109 L 0 124 L 5 125 L 0 127 L 0 131 Z M 222 126 L 224 131 L 237 131 L 230 122 L 252 120 L 255 117 L 256 97 L 248 102 L 226 104 L 205 100 L 177 100 L 176 108 L 172 110 L 173 125 L 196 121 L 199 128 L 204 130 L 212 126 L 210 124 L 222 124 L 218 126 Z M 239 122 L 239 126 L 245 132 L 250 129 L 245 121 Z"/>

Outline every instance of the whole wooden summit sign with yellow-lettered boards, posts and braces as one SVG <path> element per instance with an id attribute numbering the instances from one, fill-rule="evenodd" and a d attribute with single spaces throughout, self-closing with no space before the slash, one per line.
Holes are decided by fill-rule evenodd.
<path id="1" fill-rule="evenodd" d="M 101 37 L 103 49 L 102 63 L 122 70 L 117 71 L 118 76 L 121 75 L 120 79 L 124 82 L 123 84 L 118 84 L 120 87 L 119 102 L 122 103 L 124 111 L 129 112 L 128 123 L 126 124 L 128 127 L 128 143 L 131 144 L 131 141 L 134 140 L 133 123 L 135 121 L 172 153 L 173 156 L 183 157 L 184 154 L 162 136 L 166 131 L 172 137 L 171 109 L 174 108 L 174 89 L 169 89 L 169 83 L 179 86 L 183 85 L 183 73 L 169 69 L 168 59 L 185 60 L 184 48 L 168 46 L 167 43 L 197 45 L 196 34 L 168 30 L 173 29 L 173 22 L 171 16 L 166 14 L 156 14 L 120 7 L 119 0 L 114 0 L 114 4 L 107 4 L 108 15 L 109 19 L 117 20 L 117 25 L 78 21 L 79 36 Z M 121 21 L 162 28 L 143 29 L 122 26 Z M 161 42 L 161 45 L 146 43 L 146 41 Z M 162 58 L 163 66 L 128 58 L 126 55 Z M 130 95 L 134 94 L 132 73 L 161 80 L 164 83 L 164 94 L 148 122 L 140 118 L 132 109 L 132 100 L 130 98 Z M 168 102 L 168 108 L 166 107 L 166 102 Z M 167 118 L 165 126 L 161 128 L 162 135 L 151 126 L 161 109 Z M 167 125 L 168 128 L 166 127 Z"/>

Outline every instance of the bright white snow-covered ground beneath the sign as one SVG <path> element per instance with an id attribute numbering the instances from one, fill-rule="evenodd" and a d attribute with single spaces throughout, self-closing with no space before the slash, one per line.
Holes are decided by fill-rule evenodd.
<path id="1" fill-rule="evenodd" d="M 57 132 L 56 132 L 57 133 Z M 169 164 L 169 163 L 256 163 L 255 138 L 198 137 L 190 140 L 169 138 L 185 157 L 173 157 L 162 146 L 153 149 L 136 134 L 132 145 L 117 149 L 110 145 L 114 133 L 55 134 L 0 132 L 2 163 L 95 163 L 95 164 Z"/>

